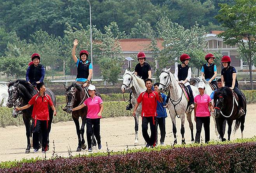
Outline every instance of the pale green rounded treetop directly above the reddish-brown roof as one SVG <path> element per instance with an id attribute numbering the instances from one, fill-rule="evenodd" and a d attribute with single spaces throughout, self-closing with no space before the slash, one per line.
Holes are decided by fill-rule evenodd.
<path id="1" fill-rule="evenodd" d="M 129 38 L 152 38 L 154 31 L 149 22 L 138 19 L 138 22 L 132 28 Z"/>

